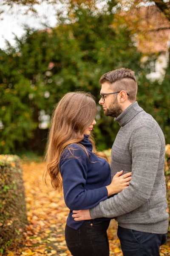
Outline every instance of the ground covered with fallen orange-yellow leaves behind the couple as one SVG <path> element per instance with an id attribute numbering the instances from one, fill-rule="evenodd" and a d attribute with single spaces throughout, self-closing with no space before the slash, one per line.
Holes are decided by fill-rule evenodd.
<path id="1" fill-rule="evenodd" d="M 68 208 L 63 194 L 45 186 L 42 174 L 44 163 L 23 163 L 28 226 L 22 243 L 9 247 L 8 256 L 71 256 L 64 239 Z M 122 256 L 116 236 L 117 223 L 112 220 L 108 229 L 110 255 Z M 161 256 L 170 256 L 170 241 L 160 250 Z"/>

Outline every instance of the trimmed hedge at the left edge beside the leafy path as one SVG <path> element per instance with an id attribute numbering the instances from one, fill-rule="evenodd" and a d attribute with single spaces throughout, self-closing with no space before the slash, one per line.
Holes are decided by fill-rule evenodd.
<path id="1" fill-rule="evenodd" d="M 20 158 L 0 155 L 0 253 L 19 241 L 27 224 Z"/>

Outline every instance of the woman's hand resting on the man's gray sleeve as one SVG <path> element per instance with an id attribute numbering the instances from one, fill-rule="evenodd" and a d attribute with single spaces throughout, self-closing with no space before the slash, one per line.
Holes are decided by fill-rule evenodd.
<path id="1" fill-rule="evenodd" d="M 126 189 L 129 186 L 129 181 L 131 180 L 132 172 L 127 172 L 126 174 L 122 175 L 123 170 L 117 172 L 110 185 L 106 186 L 108 189 L 108 196 L 117 194 L 121 192 L 123 189 Z M 122 176 L 120 176 L 122 175 Z"/>

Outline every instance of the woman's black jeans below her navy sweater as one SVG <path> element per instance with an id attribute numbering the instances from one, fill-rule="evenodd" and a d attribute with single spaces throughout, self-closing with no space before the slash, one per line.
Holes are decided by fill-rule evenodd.
<path id="1" fill-rule="evenodd" d="M 109 256 L 109 221 L 85 221 L 78 230 L 65 226 L 65 241 L 73 256 Z"/>

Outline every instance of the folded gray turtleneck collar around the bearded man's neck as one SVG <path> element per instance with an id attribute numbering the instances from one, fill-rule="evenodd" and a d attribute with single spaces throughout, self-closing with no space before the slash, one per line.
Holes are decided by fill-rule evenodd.
<path id="1" fill-rule="evenodd" d="M 143 108 L 139 107 L 138 102 L 133 102 L 118 117 L 116 117 L 114 121 L 118 122 L 120 126 L 124 126 L 142 110 Z"/>

